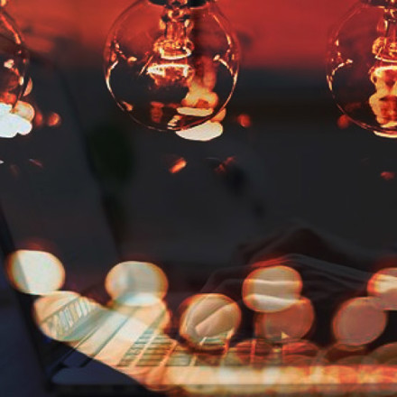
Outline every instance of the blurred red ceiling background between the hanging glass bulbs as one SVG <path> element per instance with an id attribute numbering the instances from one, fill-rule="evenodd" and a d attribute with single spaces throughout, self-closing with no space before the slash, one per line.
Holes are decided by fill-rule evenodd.
<path id="1" fill-rule="evenodd" d="M 97 60 L 111 24 L 131 4 L 131 0 L 10 0 L 7 11 L 34 50 L 50 53 L 55 42 L 59 46 L 72 39 L 88 49 L 89 62 Z M 244 43 L 245 67 L 318 69 L 324 64 L 329 29 L 355 0 L 218 0 L 218 4 Z M 83 61 L 68 56 L 65 49 L 58 49 L 65 56 L 62 61 Z"/>

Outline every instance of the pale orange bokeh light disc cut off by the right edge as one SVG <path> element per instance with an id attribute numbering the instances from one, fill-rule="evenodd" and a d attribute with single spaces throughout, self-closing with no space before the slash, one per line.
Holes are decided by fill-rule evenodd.
<path id="1" fill-rule="evenodd" d="M 379 298 L 383 309 L 397 310 L 397 268 L 383 269 L 368 282 L 368 293 Z"/>

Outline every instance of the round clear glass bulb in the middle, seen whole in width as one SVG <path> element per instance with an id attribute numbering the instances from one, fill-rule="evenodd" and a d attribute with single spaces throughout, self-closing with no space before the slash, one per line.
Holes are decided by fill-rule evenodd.
<path id="1" fill-rule="evenodd" d="M 216 116 L 238 74 L 238 45 L 214 0 L 138 0 L 106 42 L 106 83 L 135 121 L 180 131 Z"/>

